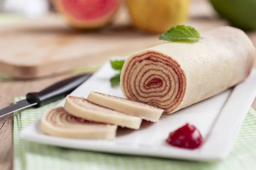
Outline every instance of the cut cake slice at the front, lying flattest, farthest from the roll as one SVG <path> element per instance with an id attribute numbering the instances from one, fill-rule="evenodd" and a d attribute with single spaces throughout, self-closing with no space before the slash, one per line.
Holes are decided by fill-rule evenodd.
<path id="1" fill-rule="evenodd" d="M 52 136 L 78 139 L 114 139 L 116 125 L 90 122 L 77 118 L 64 111 L 62 107 L 44 113 L 41 130 Z"/>

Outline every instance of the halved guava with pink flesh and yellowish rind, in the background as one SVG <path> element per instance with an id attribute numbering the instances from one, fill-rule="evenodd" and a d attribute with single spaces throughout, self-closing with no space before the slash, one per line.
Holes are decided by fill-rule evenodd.
<path id="1" fill-rule="evenodd" d="M 121 0 L 55 0 L 54 5 L 74 28 L 101 28 L 111 22 Z"/>

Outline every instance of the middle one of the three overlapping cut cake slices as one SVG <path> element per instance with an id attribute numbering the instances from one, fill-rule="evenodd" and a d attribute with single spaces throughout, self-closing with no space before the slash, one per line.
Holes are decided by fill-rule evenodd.
<path id="1" fill-rule="evenodd" d="M 96 105 L 87 99 L 67 96 L 64 110 L 86 120 L 139 129 L 142 119 Z"/>

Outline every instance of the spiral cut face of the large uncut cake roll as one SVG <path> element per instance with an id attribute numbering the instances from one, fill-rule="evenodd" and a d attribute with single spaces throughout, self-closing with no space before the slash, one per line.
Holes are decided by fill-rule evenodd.
<path id="1" fill-rule="evenodd" d="M 120 83 L 127 99 L 162 108 L 164 113 L 180 104 L 186 88 L 180 65 L 154 51 L 128 59 Z"/>

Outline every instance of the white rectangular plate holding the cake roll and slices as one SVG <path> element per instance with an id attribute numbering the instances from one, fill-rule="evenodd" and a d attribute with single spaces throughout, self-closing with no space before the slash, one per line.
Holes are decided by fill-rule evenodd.
<path id="1" fill-rule="evenodd" d="M 87 97 L 90 91 L 123 97 L 119 87 L 111 88 L 109 79 L 116 72 L 109 62 L 79 88 L 73 96 Z M 39 128 L 40 120 L 24 128 L 20 137 L 28 141 L 81 150 L 107 153 L 154 156 L 201 161 L 224 159 L 230 150 L 256 96 L 256 70 L 235 88 L 210 99 L 184 108 L 171 115 L 163 115 L 157 123 L 143 122 L 140 130 L 119 128 L 113 141 L 66 139 L 48 136 Z M 62 101 L 58 106 L 64 105 Z M 204 145 L 197 150 L 172 147 L 165 140 L 177 127 L 189 122 L 201 131 Z"/>

